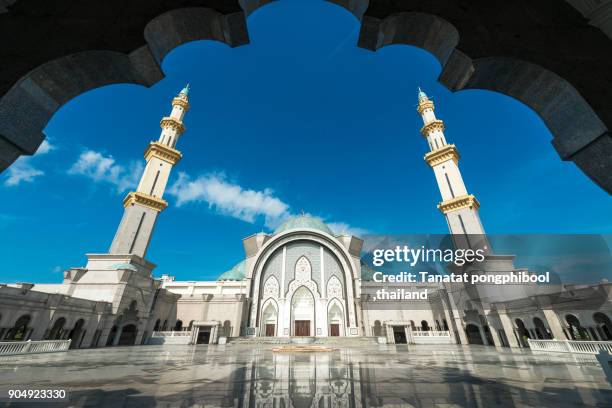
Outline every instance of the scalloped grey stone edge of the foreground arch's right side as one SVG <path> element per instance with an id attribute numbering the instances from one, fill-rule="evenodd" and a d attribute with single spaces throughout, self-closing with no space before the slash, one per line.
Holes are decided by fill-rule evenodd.
<path id="1" fill-rule="evenodd" d="M 415 11 L 385 13 L 384 6 L 368 9 L 368 3 L 375 1 L 334 2 L 351 9 L 362 21 L 359 47 L 371 51 L 392 44 L 422 48 L 440 62 L 438 81 L 451 91 L 490 90 L 530 107 L 553 134 L 552 144 L 561 159 L 573 161 L 601 188 L 612 192 L 610 105 L 597 106 L 601 105 L 599 101 L 594 109 L 568 80 L 537 63 L 503 54 L 470 57 L 461 50 L 460 30 L 442 17 L 416 11 L 419 6 L 405 6 L 414 6 Z M 602 40 L 603 44 L 608 41 L 612 51 L 609 40 Z M 470 45 L 475 48 L 473 43 Z"/>

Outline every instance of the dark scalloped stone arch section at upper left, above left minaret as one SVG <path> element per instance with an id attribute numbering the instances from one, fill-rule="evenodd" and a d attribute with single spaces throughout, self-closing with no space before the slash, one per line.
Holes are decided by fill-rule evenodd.
<path id="1" fill-rule="evenodd" d="M 87 27 L 91 32 L 97 29 L 106 31 L 108 37 L 118 36 L 118 41 L 112 45 L 104 35 L 100 38 L 79 36 L 70 32 L 69 24 L 64 24 L 62 28 L 66 33 L 59 36 L 62 37 L 61 47 L 53 44 L 53 49 L 48 47 L 40 55 L 16 58 L 14 67 L 6 74 L 8 78 L 0 78 L 0 171 L 20 155 L 34 154 L 45 139 L 43 129 L 51 117 L 74 97 L 110 84 L 150 87 L 164 78 L 161 69 L 164 57 L 190 41 L 216 40 L 230 47 L 247 44 L 246 15 L 266 2 L 240 0 L 220 4 L 201 0 L 158 7 L 151 4 L 150 10 L 142 11 L 147 16 L 138 15 L 133 19 L 136 22 L 128 23 L 141 24 L 140 36 L 129 30 L 109 32 L 110 27 L 121 26 L 119 21 L 109 24 L 104 19 L 83 16 L 88 19 Z M 202 6 L 183 7 L 189 3 Z M 155 12 L 159 14 L 149 14 Z M 9 14 L 0 11 L 0 22 L 10 17 L 10 11 Z M 61 21 L 62 16 L 51 15 L 49 19 L 53 17 Z M 51 31 L 50 28 L 46 30 Z M 78 28 L 73 30 L 78 31 Z M 19 33 L 13 32 L 13 35 L 19 36 Z M 45 40 L 41 39 L 41 44 Z M 31 39 L 23 41 L 31 42 Z M 21 77 L 19 71 L 24 72 Z"/>

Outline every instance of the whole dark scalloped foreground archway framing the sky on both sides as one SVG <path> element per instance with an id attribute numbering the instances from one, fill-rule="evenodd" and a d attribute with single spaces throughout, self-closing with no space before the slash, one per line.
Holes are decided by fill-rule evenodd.
<path id="1" fill-rule="evenodd" d="M 15 58 L 7 77 L 0 78 L 0 171 L 20 155 L 33 154 L 44 139 L 42 130 L 53 113 L 75 96 L 113 83 L 151 86 L 163 78 L 160 68 L 163 57 L 188 41 L 211 39 L 231 47 L 247 44 L 246 16 L 270 1 L 192 0 L 174 4 L 171 1 L 151 1 L 147 10 L 141 10 L 129 21 L 125 21 L 125 15 L 118 16 L 130 25 L 130 30 L 123 30 L 121 35 L 113 32 L 112 25 L 104 19 L 90 17 L 88 29 L 91 32 L 102 30 L 107 33 L 99 38 L 79 35 L 81 26 L 65 23 L 63 29 L 68 31 L 61 47 L 57 44 L 46 46 L 47 38 L 33 41 L 36 29 L 10 32 L 11 36 L 16 36 L 11 45 L 19 45 L 23 35 L 26 37 L 24 41 L 29 41 L 28 45 L 39 47 L 41 52 L 33 52 L 26 58 L 21 54 L 20 50 L 24 48 L 21 46 L 21 49 L 14 52 L 9 49 L 6 53 L 21 58 Z M 612 58 L 605 55 L 611 54 L 612 46 L 609 38 L 599 29 L 589 26 L 571 5 L 566 2 L 555 4 L 558 13 L 553 14 L 562 18 L 552 19 L 542 29 L 548 30 L 544 37 L 538 37 L 542 30 L 532 29 L 529 24 L 528 28 L 523 27 L 524 24 L 515 24 L 515 38 L 510 31 L 500 37 L 503 41 L 496 42 L 494 36 L 490 35 L 492 38 L 487 38 L 487 41 L 481 37 L 483 32 L 497 31 L 496 23 L 501 22 L 502 28 L 508 30 L 508 25 L 514 20 L 503 16 L 514 13 L 514 18 L 524 16 L 531 21 L 537 21 L 543 15 L 553 18 L 549 8 L 542 11 L 550 5 L 543 1 L 531 2 L 530 9 L 525 10 L 525 5 L 516 7 L 511 2 L 491 2 L 495 4 L 488 6 L 494 11 L 487 16 L 494 18 L 485 18 L 481 13 L 473 16 L 469 10 L 472 4 L 467 1 L 444 2 L 442 5 L 440 1 L 328 1 L 344 7 L 361 21 L 359 47 L 377 50 L 390 44 L 409 44 L 423 48 L 436 56 L 442 65 L 439 81 L 450 90 L 487 89 L 525 103 L 553 133 L 553 145 L 560 157 L 574 161 L 595 183 L 612 192 L 612 161 L 609 159 L 612 157 L 609 130 L 612 127 L 612 102 L 609 94 L 606 96 L 602 92 L 609 88 L 605 74 L 612 70 Z M 13 6 L 20 5 L 15 0 L 5 0 L 5 3 L 4 8 L 0 6 L 0 23 L 3 16 L 10 17 Z M 186 5 L 192 7 L 184 8 Z M 487 12 L 491 13 L 491 10 L 482 13 Z M 49 18 L 60 21 L 64 17 L 61 12 L 50 14 Z M 93 15 L 95 17 L 95 13 Z M 457 27 L 450 21 L 454 21 Z M 45 33 L 49 32 L 46 27 L 41 25 Z M 566 37 L 559 40 L 567 43 L 569 51 L 566 52 L 558 52 L 555 47 L 540 47 L 541 52 L 534 52 L 524 46 L 537 39 L 548 41 L 555 38 L 557 32 L 567 36 L 568 27 L 580 34 L 583 43 L 589 44 L 589 50 L 580 52 L 579 47 L 582 45 L 584 48 L 584 44 L 570 44 Z M 138 36 L 138 29 L 144 33 L 144 38 Z M 115 49 L 107 49 L 113 47 Z M 587 62 L 583 65 L 588 65 L 592 75 L 585 75 L 585 72 L 565 63 L 564 55 L 568 52 L 584 54 Z M 585 95 L 588 101 L 581 95 Z"/>

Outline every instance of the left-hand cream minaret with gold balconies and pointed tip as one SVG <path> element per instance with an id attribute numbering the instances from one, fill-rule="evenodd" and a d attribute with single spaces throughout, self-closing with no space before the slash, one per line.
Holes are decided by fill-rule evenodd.
<path id="1" fill-rule="evenodd" d="M 147 248 L 158 214 L 168 203 L 162 198 L 172 167 L 182 155 L 175 149 L 179 137 L 185 131 L 183 117 L 189 109 L 189 85 L 172 100 L 170 116 L 160 122 L 161 134 L 145 151 L 147 162 L 136 191 L 123 200 L 125 210 L 109 253 L 135 254 L 142 258 Z"/>

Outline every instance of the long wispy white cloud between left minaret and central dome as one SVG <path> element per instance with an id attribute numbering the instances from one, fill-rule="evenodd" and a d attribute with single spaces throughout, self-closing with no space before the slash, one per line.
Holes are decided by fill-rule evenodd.
<path id="1" fill-rule="evenodd" d="M 206 203 L 221 214 L 250 223 L 262 216 L 266 225 L 271 226 L 288 216 L 289 206 L 275 197 L 272 190 L 244 189 L 222 174 L 206 174 L 192 180 L 181 172 L 168 193 L 176 197 L 179 207 L 190 202 Z"/>

